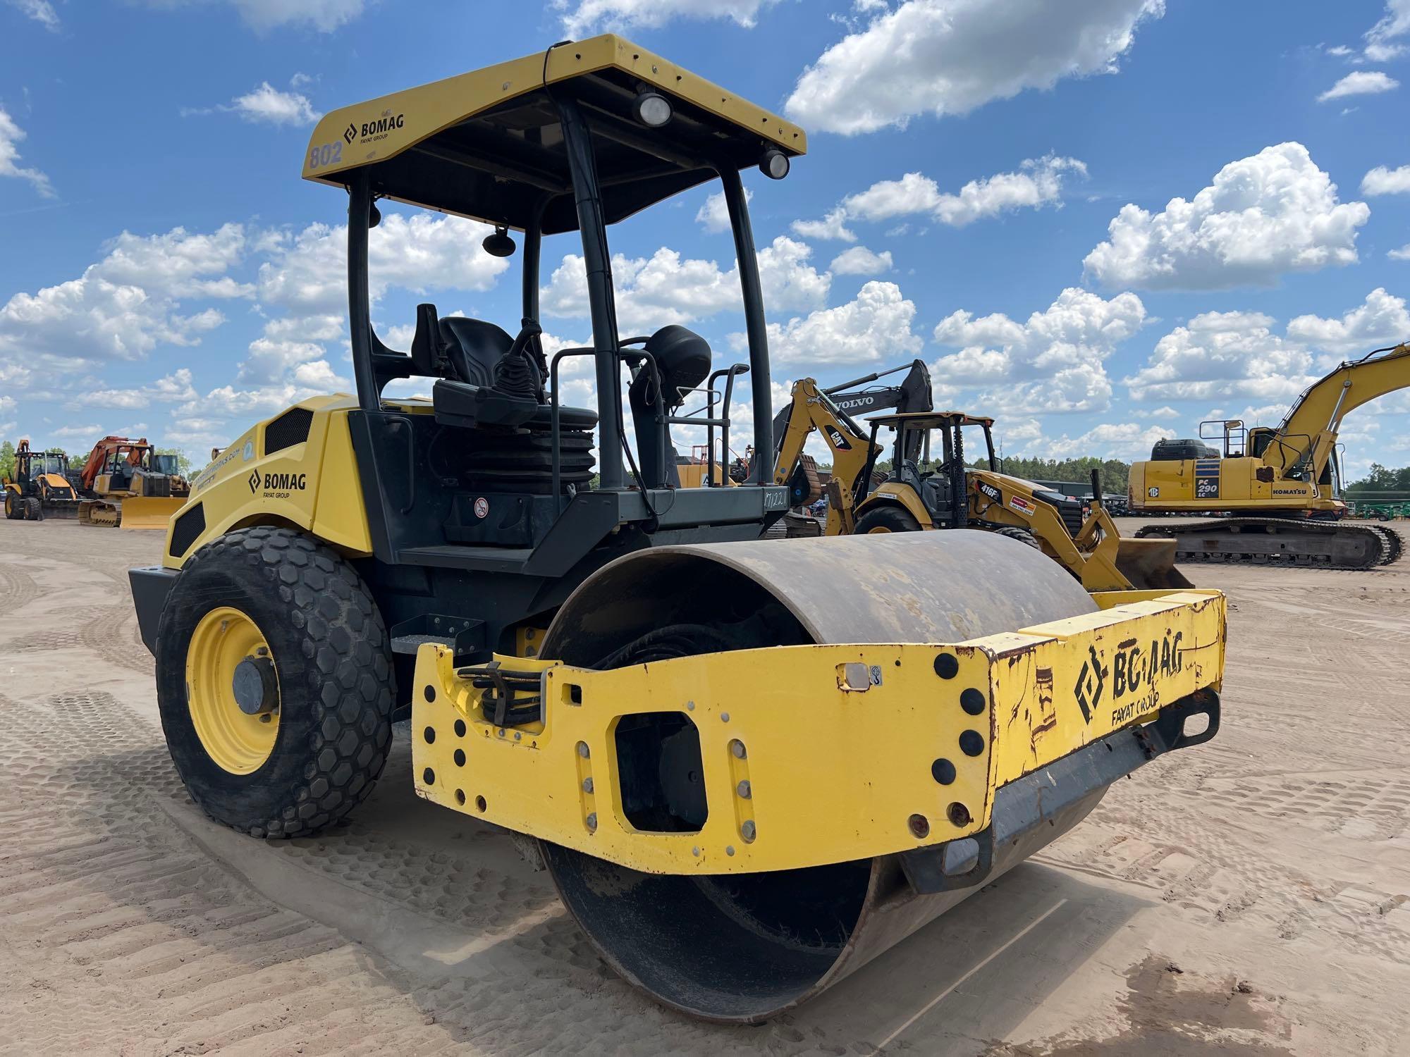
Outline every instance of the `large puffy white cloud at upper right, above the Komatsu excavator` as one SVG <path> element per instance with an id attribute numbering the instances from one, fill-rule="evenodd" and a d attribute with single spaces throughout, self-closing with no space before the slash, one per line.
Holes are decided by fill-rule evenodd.
<path id="1" fill-rule="evenodd" d="M 1107 286 L 1214 290 L 1269 286 L 1285 272 L 1356 261 L 1371 209 L 1338 203 L 1337 185 L 1297 142 L 1230 162 L 1193 200 L 1162 213 L 1127 204 L 1086 271 Z"/>

